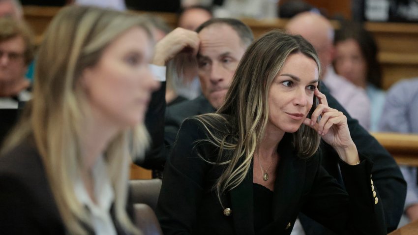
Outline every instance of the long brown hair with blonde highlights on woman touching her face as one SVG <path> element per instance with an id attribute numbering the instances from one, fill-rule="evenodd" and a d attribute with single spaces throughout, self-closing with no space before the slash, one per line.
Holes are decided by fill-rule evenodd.
<path id="1" fill-rule="evenodd" d="M 249 46 L 240 60 L 223 105 L 215 114 L 196 116 L 209 133 L 208 139 L 203 141 L 219 148 L 216 161 L 204 160 L 227 165 L 214 185 L 221 205 L 221 195 L 238 186 L 250 169 L 253 155 L 265 137 L 270 86 L 289 55 L 295 53 L 315 60 L 321 71 L 315 49 L 301 36 L 280 30 L 264 34 Z M 317 105 L 315 101 L 308 117 Z M 309 157 L 317 151 L 320 136 L 302 124 L 293 133 L 293 143 L 299 157 Z M 232 153 L 225 157 L 224 150 Z"/>

